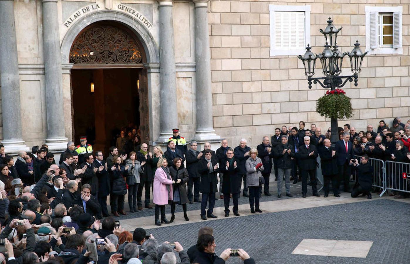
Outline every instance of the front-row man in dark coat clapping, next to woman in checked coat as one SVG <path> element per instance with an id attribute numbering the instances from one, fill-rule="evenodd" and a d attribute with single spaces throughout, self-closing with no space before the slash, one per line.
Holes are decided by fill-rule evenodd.
<path id="1" fill-rule="evenodd" d="M 238 174 L 239 161 L 234 157 L 232 148 L 226 151 L 226 157 L 223 157 L 220 162 L 220 171 L 223 173 L 222 193 L 223 202 L 225 204 L 225 217 L 229 216 L 229 200 L 232 193 L 233 214 L 239 216 L 238 200 L 241 192 L 242 177 Z"/>

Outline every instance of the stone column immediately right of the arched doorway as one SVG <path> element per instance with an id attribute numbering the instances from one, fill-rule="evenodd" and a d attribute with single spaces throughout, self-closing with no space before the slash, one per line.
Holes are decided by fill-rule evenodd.
<path id="1" fill-rule="evenodd" d="M 159 85 L 161 98 L 160 133 L 157 141 L 166 142 L 178 126 L 175 77 L 172 0 L 159 0 Z"/>

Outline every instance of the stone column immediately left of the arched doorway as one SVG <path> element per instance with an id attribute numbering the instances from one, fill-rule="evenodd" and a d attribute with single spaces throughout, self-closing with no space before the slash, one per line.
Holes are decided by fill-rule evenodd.
<path id="1" fill-rule="evenodd" d="M 64 150 L 68 139 L 64 127 L 62 64 L 57 0 L 43 0 L 43 43 L 46 83 L 47 139 L 50 150 Z"/>

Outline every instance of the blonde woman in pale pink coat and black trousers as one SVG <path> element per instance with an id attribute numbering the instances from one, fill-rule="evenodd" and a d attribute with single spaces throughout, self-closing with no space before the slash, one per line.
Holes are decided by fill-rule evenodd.
<path id="1" fill-rule="evenodd" d="M 165 218 L 165 205 L 168 201 L 173 199 L 172 197 L 172 184 L 175 181 L 172 180 L 169 173 L 168 162 L 166 158 L 162 157 L 157 163 L 158 169 L 155 171 L 153 196 L 155 203 L 155 225 L 161 225 L 161 223 L 169 224 L 170 222 Z M 159 221 L 159 209 L 161 209 L 161 222 Z"/>

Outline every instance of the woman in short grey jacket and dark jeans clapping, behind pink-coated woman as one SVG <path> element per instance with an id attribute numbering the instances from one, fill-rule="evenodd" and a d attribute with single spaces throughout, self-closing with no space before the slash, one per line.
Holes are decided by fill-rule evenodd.
<path id="1" fill-rule="evenodd" d="M 125 166 L 128 165 L 127 170 L 127 184 L 128 184 L 128 205 L 130 205 L 130 212 L 137 212 L 137 190 L 138 184 L 141 182 L 139 173 L 144 173 L 145 162 L 139 163 L 137 153 L 130 152 L 130 159 L 127 159 Z"/>

